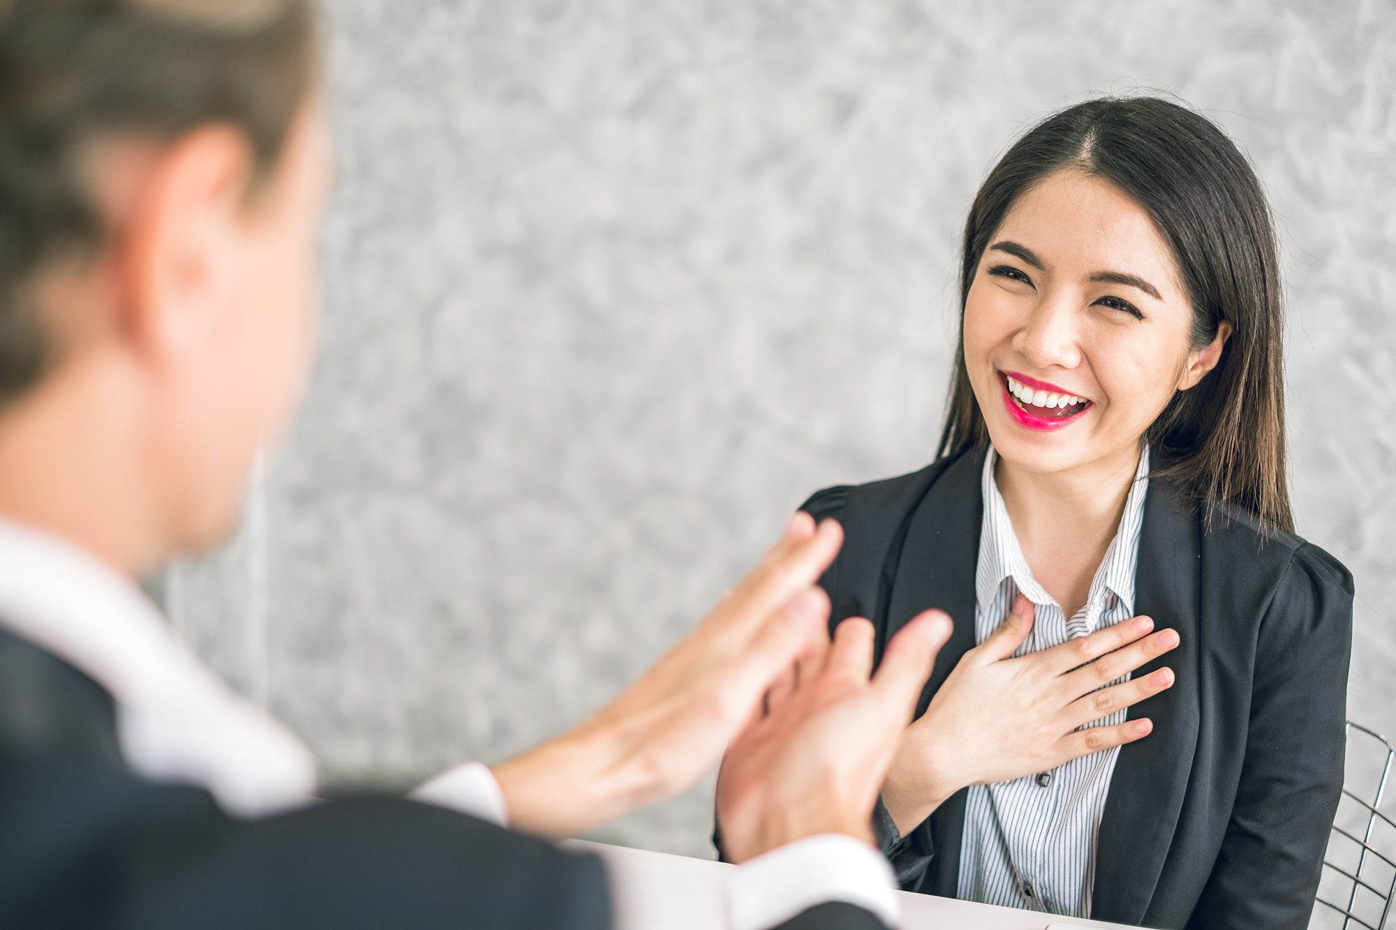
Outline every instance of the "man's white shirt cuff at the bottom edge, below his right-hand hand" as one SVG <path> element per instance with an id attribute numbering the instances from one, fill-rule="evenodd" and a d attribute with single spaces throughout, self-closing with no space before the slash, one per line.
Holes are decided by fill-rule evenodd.
<path id="1" fill-rule="evenodd" d="M 892 867 L 872 846 L 839 834 L 808 836 L 732 871 L 727 923 L 732 930 L 769 930 L 815 905 L 843 901 L 895 927 L 902 919 L 895 891 Z"/>

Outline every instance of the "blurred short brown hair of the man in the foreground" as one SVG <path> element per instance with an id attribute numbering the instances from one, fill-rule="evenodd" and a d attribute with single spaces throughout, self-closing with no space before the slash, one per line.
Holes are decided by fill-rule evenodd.
<path id="1" fill-rule="evenodd" d="M 96 254 L 81 159 L 119 134 L 228 123 L 271 173 L 318 81 L 311 0 L 0 0 L 0 405 L 57 355 L 28 289 Z"/>

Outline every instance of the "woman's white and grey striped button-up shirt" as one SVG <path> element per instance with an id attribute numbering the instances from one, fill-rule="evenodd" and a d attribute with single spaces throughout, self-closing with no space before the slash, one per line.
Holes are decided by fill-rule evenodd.
<path id="1" fill-rule="evenodd" d="M 1139 526 L 1149 487 L 1149 450 L 1139 455 L 1120 528 L 1090 581 L 1086 606 L 1069 619 L 1027 567 L 1004 497 L 994 482 L 997 461 L 998 455 L 990 448 L 984 462 L 984 522 L 974 578 L 977 641 L 983 642 L 998 628 L 1019 591 L 1033 602 L 1036 620 L 1027 641 L 1015 655 L 1048 649 L 1134 616 Z M 1120 709 L 1089 726 L 1124 721 L 1125 711 Z M 1120 748 L 1115 747 L 1050 772 L 972 786 L 965 810 L 958 896 L 1089 917 L 1096 836 L 1118 757 Z"/>

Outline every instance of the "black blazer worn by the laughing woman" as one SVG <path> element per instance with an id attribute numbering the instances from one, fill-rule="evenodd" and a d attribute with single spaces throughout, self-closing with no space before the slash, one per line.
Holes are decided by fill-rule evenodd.
<path id="1" fill-rule="evenodd" d="M 843 550 L 822 580 L 835 624 L 872 620 L 881 656 L 927 607 L 955 620 L 917 715 L 974 647 L 983 466 L 983 452 L 966 454 L 831 487 L 803 507 L 843 524 Z M 1290 533 L 1262 545 L 1258 522 L 1238 510 L 1208 529 L 1198 508 L 1152 480 L 1135 584 L 1135 610 L 1181 637 L 1136 674 L 1167 665 L 1177 680 L 1129 711 L 1154 730 L 1120 753 L 1090 916 L 1304 930 L 1343 785 L 1353 577 Z M 885 845 L 906 890 L 956 895 L 965 797 Z"/>

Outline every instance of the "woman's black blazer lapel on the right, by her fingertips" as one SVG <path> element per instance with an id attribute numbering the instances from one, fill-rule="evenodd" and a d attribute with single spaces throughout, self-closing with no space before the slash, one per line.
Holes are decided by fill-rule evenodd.
<path id="1" fill-rule="evenodd" d="M 1181 642 L 1135 676 L 1168 666 L 1167 691 L 1129 708 L 1153 732 L 1120 750 L 1096 846 L 1090 916 L 1138 924 L 1153 898 L 1173 842 L 1198 740 L 1199 525 L 1192 508 L 1164 482 L 1145 501 L 1135 580 L 1135 613 L 1171 627 Z"/>

